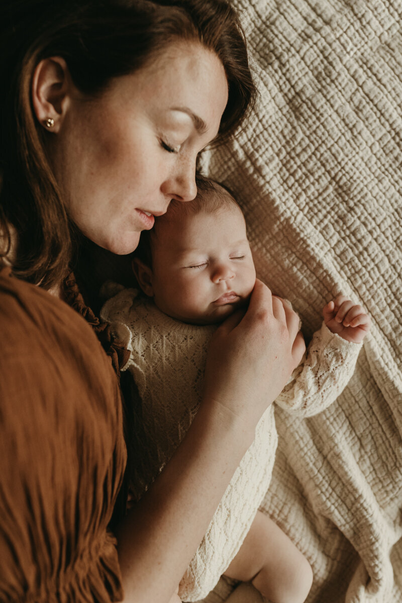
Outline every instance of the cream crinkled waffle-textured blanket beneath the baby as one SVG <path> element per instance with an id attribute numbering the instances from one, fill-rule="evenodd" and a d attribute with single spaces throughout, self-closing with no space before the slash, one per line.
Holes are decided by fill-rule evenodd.
<path id="1" fill-rule="evenodd" d="M 333 406 L 277 409 L 263 511 L 306 554 L 310 603 L 402 601 L 402 2 L 234 0 L 259 105 L 206 171 L 245 210 L 260 278 L 310 336 L 342 291 L 371 314 Z M 208 603 L 225 601 L 221 579 Z M 244 603 L 247 603 L 245 601 Z"/>

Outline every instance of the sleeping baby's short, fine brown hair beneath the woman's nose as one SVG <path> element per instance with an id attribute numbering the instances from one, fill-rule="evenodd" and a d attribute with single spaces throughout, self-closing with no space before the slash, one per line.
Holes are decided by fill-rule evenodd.
<path id="1" fill-rule="evenodd" d="M 151 230 L 143 230 L 141 233 L 140 242 L 132 256 L 137 257 L 149 268 L 152 268 L 152 244 L 158 236 L 158 224 L 171 219 L 175 220 L 178 215 L 196 215 L 203 212 L 211 214 L 232 207 L 236 207 L 243 215 L 241 207 L 227 186 L 202 174 L 196 174 L 195 182 L 197 194 L 192 201 L 183 203 L 172 199 L 168 211 L 160 218 L 155 219 L 154 227 Z"/>

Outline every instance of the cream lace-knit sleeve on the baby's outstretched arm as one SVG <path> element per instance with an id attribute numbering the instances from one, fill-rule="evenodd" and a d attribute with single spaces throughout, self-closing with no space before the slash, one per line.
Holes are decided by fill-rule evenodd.
<path id="1" fill-rule="evenodd" d="M 323 411 L 344 390 L 353 375 L 362 344 L 331 333 L 325 323 L 314 333 L 307 354 L 275 400 L 303 417 Z"/>

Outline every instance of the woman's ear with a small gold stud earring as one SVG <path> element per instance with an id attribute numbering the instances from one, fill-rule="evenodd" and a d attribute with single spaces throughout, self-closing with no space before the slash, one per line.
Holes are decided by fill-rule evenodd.
<path id="1" fill-rule="evenodd" d="M 64 58 L 44 58 L 36 66 L 32 81 L 32 103 L 37 120 L 46 130 L 60 130 L 73 85 Z"/>

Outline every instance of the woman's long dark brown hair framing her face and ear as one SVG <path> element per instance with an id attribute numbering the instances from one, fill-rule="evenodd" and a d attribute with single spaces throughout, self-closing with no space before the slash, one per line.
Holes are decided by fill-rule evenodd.
<path id="1" fill-rule="evenodd" d="M 78 89 L 99 95 L 111 78 L 136 71 L 172 40 L 197 40 L 227 75 L 218 142 L 240 125 L 256 89 L 227 0 L 7 0 L 1 11 L 0 235 L 9 248 L 10 227 L 16 232 L 14 274 L 49 288 L 68 273 L 78 233 L 46 159 L 48 134 L 31 108 L 40 60 L 63 57 Z"/>

